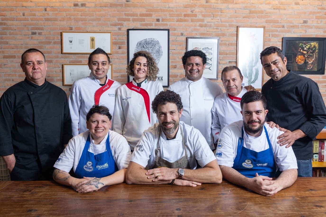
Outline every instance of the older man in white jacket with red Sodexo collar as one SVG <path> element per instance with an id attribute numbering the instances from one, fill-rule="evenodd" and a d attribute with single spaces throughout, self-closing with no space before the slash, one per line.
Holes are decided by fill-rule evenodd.
<path id="1" fill-rule="evenodd" d="M 222 70 L 221 80 L 226 92 L 215 97 L 212 108 L 211 129 L 215 144 L 226 125 L 242 119 L 240 102 L 241 97 L 247 92 L 241 86 L 243 76 L 236 66 L 225 67 Z"/>

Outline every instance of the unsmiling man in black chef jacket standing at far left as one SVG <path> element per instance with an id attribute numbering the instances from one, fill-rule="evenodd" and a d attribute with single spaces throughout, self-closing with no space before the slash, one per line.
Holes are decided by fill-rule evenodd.
<path id="1" fill-rule="evenodd" d="M 22 54 L 25 80 L 0 99 L 0 156 L 11 180 L 52 180 L 53 164 L 71 139 L 66 93 L 46 81 L 44 54 Z"/>

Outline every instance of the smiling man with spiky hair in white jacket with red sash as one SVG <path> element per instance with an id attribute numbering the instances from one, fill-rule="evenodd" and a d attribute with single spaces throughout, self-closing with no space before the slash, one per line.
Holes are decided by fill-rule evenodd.
<path id="1" fill-rule="evenodd" d="M 115 96 L 121 84 L 108 78 L 110 65 L 110 57 L 98 47 L 88 57 L 89 76 L 73 83 L 68 100 L 73 136 L 87 130 L 86 114 L 94 104 L 105 105 L 114 115 Z"/>

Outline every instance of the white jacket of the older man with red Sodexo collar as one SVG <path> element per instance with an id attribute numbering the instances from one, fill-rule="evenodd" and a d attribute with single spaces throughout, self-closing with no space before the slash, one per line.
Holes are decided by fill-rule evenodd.
<path id="1" fill-rule="evenodd" d="M 242 96 L 247 90 L 242 87 L 242 91 L 237 96 Z M 221 94 L 215 97 L 213 108 L 212 108 L 212 134 L 214 136 L 214 143 L 217 142 L 221 130 L 234 121 L 242 120 L 242 114 L 240 113 L 241 106 L 240 101 L 236 102 L 230 99 L 228 93 Z"/>

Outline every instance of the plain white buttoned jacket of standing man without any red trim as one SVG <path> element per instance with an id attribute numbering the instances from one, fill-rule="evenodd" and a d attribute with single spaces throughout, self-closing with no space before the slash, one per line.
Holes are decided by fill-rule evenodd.
<path id="1" fill-rule="evenodd" d="M 181 96 L 183 112 L 180 121 L 198 129 L 214 149 L 211 110 L 215 97 L 223 94 L 220 86 L 204 77 L 195 82 L 185 77 L 168 89 Z"/>

